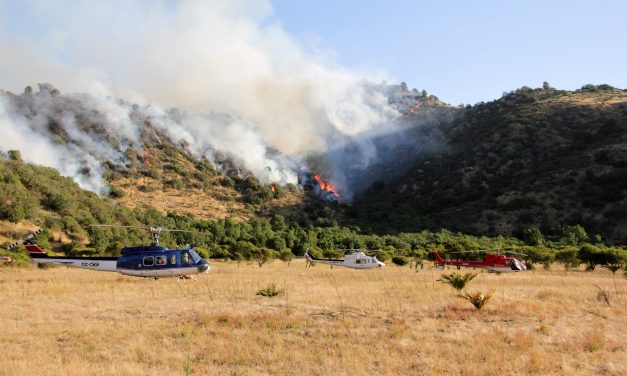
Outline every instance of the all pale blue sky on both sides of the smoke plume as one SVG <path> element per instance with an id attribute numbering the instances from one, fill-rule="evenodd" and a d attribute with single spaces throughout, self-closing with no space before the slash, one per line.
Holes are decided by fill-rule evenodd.
<path id="1" fill-rule="evenodd" d="M 64 30 L 69 18 L 85 17 L 83 25 L 88 28 L 89 17 L 95 14 L 92 8 L 103 7 L 102 14 L 112 18 L 101 29 L 111 33 L 112 40 L 122 40 L 116 33 L 128 32 L 134 19 L 138 26 L 131 32 L 142 33 L 144 20 L 158 28 L 154 24 L 175 12 L 179 2 L 117 2 L 117 15 L 101 4 L 0 0 L 0 59 L 21 55 L 32 60 L 32 51 L 23 53 L 23 46 L 30 44 L 48 51 L 46 59 L 39 59 L 45 61 L 32 69 L 55 71 L 78 60 L 64 48 L 68 33 L 81 31 L 80 24 Z M 262 31 L 280 29 L 281 38 L 291 39 L 312 58 L 324 59 L 327 67 L 391 83 L 404 81 L 454 105 L 492 100 L 524 85 L 541 86 L 543 81 L 570 90 L 588 83 L 627 87 L 627 1 L 240 0 L 235 4 L 241 4 L 246 17 Z M 92 13 L 86 15 L 86 10 Z M 147 13 L 158 16 L 147 17 Z M 118 23 L 122 27 L 116 28 Z M 95 33 L 86 30 L 88 36 Z M 105 45 L 102 51 L 100 44 Z M 93 43 L 89 52 L 107 61 L 105 47 L 110 47 L 106 41 Z M 86 47 L 75 43 L 73 48 Z M 120 43 L 120 48 L 132 46 Z M 24 67 L 24 62 L 15 64 Z M 125 69 L 120 61 L 108 64 L 108 76 Z M 0 87 L 14 89 L 20 77 L 5 71 L 12 76 L 0 72 Z M 72 72 L 66 69 L 66 75 Z M 31 84 L 21 86 L 27 83 Z"/>

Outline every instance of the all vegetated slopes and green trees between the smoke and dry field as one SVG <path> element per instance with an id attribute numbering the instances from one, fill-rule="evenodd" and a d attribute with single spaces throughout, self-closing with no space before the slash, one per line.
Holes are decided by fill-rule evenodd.
<path id="1" fill-rule="evenodd" d="M 146 139 L 145 153 L 128 148 L 125 164 L 105 164 L 108 198 L 11 151 L 0 160 L 0 220 L 23 228 L 0 235 L 8 243 L 39 226 L 46 232 L 38 241 L 55 251 L 115 255 L 146 243 L 146 234 L 89 224 L 159 225 L 195 231 L 164 234 L 164 244 L 235 260 L 288 261 L 307 248 L 327 256 L 382 249 L 381 259 L 418 260 L 434 248 L 516 248 L 545 266 L 620 265 L 623 250 L 604 242 L 620 242 L 624 224 L 616 215 L 625 206 L 624 96 L 607 87 L 523 88 L 468 107 L 441 125 L 449 153 L 422 161 L 396 185 L 375 184 L 354 206 L 228 168 L 225 175 L 158 131 L 166 141 Z M 518 238 L 499 236 L 508 233 Z"/>

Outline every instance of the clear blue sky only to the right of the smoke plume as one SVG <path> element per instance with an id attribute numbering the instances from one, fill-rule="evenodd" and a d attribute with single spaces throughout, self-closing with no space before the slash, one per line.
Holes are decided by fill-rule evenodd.
<path id="1" fill-rule="evenodd" d="M 627 88 L 627 1 L 273 0 L 297 38 L 452 103 L 543 81 Z"/>

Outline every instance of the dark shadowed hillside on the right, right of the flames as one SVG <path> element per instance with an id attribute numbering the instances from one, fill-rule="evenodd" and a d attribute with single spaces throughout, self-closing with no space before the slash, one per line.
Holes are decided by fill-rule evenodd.
<path id="1" fill-rule="evenodd" d="M 590 235 L 627 241 L 625 90 L 525 87 L 467 106 L 443 133 L 445 152 L 368 190 L 349 221 L 386 232 L 536 227 L 545 236 L 580 224 Z"/>

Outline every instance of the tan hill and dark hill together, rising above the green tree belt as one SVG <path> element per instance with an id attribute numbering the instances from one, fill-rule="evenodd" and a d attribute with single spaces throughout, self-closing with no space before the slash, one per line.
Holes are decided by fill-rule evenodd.
<path id="1" fill-rule="evenodd" d="M 60 95 L 50 87 L 43 90 Z M 591 234 L 627 243 L 621 218 L 621 212 L 627 212 L 625 90 L 607 85 L 587 85 L 574 92 L 523 87 L 464 108 L 403 85 L 389 90 L 389 101 L 403 114 L 401 121 L 420 125 L 407 128 L 413 138 L 392 155 L 405 160 L 382 159 L 385 163 L 370 166 L 374 177 L 367 181 L 374 182 L 364 186 L 352 204 L 325 201 L 305 186 L 260 183 L 228 158 L 218 170 L 149 120 L 143 120 L 141 144 L 119 148 L 116 152 L 123 159 L 99 168 L 117 204 L 164 215 L 247 221 L 280 213 L 303 224 L 340 223 L 383 234 L 447 228 L 520 236 L 538 228 L 550 236 L 560 227 L 583 225 Z M 34 94 L 27 89 L 24 95 Z M 85 118 L 105 115 L 96 111 Z M 59 128 L 64 118 L 57 119 L 47 129 L 60 146 L 67 145 Z M 95 134 L 105 131 L 93 120 L 84 127 L 95 129 Z M 412 142 L 422 142 L 421 137 L 435 140 L 435 146 L 414 148 Z M 376 142 L 385 145 L 388 140 Z M 376 180 L 379 170 L 398 171 L 386 171 L 382 176 L 387 179 Z M 81 173 L 97 171 L 83 167 Z"/>

